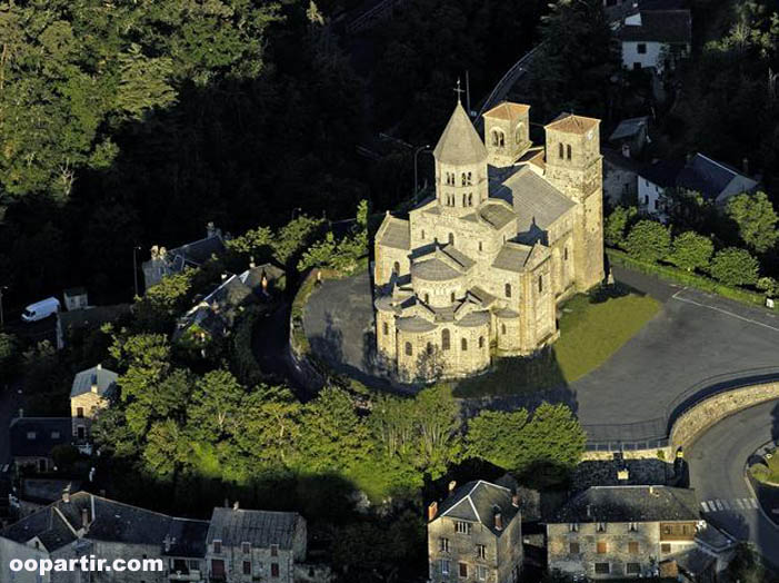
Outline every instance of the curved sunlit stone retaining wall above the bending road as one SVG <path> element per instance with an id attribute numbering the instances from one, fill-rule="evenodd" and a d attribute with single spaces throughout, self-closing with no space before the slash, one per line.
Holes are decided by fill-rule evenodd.
<path id="1" fill-rule="evenodd" d="M 713 395 L 685 412 L 671 428 L 672 449 L 689 447 L 703 432 L 725 417 L 753 405 L 779 398 L 779 383 L 766 383 Z"/>

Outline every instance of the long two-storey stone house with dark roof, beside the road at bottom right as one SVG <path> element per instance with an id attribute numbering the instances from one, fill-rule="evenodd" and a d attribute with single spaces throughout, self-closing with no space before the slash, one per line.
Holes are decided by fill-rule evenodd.
<path id="1" fill-rule="evenodd" d="M 550 570 L 589 579 L 658 576 L 697 547 L 693 490 L 593 486 L 547 523 Z"/>

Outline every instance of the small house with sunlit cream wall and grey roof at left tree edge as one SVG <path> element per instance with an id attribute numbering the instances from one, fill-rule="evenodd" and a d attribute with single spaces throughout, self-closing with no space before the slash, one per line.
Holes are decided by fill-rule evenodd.
<path id="1" fill-rule="evenodd" d="M 101 364 L 81 370 L 73 377 L 70 388 L 70 417 L 72 435 L 82 444 L 92 435 L 92 422 L 97 414 L 108 407 L 117 392 L 117 373 Z"/>

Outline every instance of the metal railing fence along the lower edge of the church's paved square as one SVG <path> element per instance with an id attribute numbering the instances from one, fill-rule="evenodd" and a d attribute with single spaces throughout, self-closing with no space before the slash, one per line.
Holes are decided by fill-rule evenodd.
<path id="1" fill-rule="evenodd" d="M 698 403 L 736 388 L 779 381 L 779 366 L 748 368 L 713 375 L 685 389 L 666 406 L 661 417 L 636 423 L 583 425 L 590 452 L 630 452 L 669 445 L 673 423 Z"/>

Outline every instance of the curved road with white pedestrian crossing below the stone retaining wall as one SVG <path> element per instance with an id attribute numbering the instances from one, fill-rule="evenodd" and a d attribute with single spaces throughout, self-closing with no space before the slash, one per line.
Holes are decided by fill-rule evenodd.
<path id="1" fill-rule="evenodd" d="M 743 475 L 749 456 L 770 439 L 779 439 L 779 401 L 722 419 L 688 449 L 687 461 L 703 517 L 735 538 L 753 542 L 779 567 L 779 526 L 757 508 Z"/>

